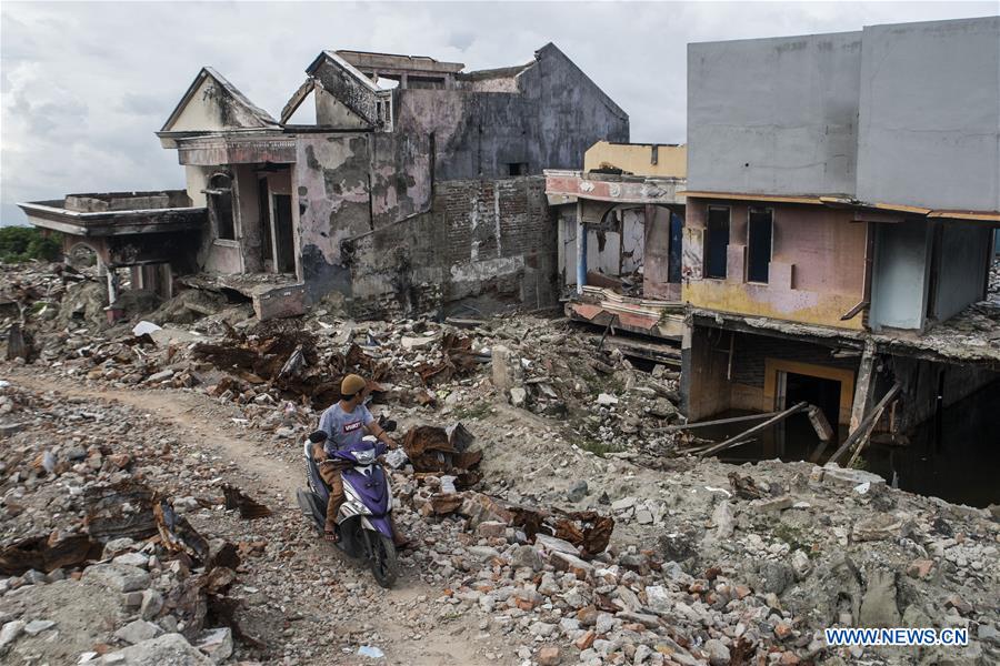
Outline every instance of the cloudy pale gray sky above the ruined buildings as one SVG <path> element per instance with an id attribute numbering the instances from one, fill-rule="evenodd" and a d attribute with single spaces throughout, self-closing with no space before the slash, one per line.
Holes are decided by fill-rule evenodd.
<path id="1" fill-rule="evenodd" d="M 182 188 L 159 130 L 204 64 L 278 115 L 322 49 L 469 69 L 554 42 L 631 117 L 633 141 L 684 141 L 684 46 L 997 13 L 997 2 L 292 3 L 0 6 L 0 223 L 68 192 Z"/>

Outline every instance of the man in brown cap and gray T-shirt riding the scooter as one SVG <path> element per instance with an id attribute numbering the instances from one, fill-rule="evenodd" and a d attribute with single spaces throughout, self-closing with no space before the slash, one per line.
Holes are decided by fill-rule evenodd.
<path id="1" fill-rule="evenodd" d="M 381 425 L 376 421 L 371 412 L 364 406 L 368 395 L 368 383 L 363 377 L 349 374 L 340 383 L 340 400 L 330 405 L 320 416 L 319 430 L 327 434 L 326 445 L 314 444 L 312 457 L 319 466 L 320 476 L 330 486 L 330 501 L 327 504 L 327 524 L 323 527 L 326 538 L 338 541 L 337 512 L 343 504 L 343 478 L 341 472 L 350 466 L 341 460 L 332 457 L 337 451 L 357 446 L 364 435 L 374 435 L 389 448 L 396 448 L 397 444 Z M 392 524 L 393 541 L 397 547 L 407 544 L 407 539 Z"/>

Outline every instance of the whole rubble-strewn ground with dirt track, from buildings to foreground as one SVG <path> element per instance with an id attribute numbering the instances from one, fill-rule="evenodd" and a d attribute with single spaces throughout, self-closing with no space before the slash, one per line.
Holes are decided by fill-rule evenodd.
<path id="1" fill-rule="evenodd" d="M 682 420 L 676 375 L 637 372 L 562 321 L 261 325 L 220 297 L 137 335 L 74 316 L 82 285 L 22 303 L 51 325 L 31 330 L 30 365 L 3 366 L 10 663 L 1000 658 L 996 507 L 858 471 L 686 456 L 688 436 L 666 430 Z M 393 487 L 417 547 L 390 592 L 318 542 L 294 502 L 301 437 L 347 370 L 378 383 L 373 411 L 400 441 L 461 423 L 478 454 L 427 471 L 409 438 Z M 137 514 L 166 503 L 190 531 L 102 514 L 123 484 L 144 488 L 129 495 Z M 241 518 L 226 485 L 270 515 Z M 831 625 L 968 627 L 971 646 L 829 648 Z"/>

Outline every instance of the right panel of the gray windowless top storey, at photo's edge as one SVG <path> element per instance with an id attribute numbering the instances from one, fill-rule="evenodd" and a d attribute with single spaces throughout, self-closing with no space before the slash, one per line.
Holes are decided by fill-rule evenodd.
<path id="1" fill-rule="evenodd" d="M 863 34 L 858 196 L 1000 210 L 1000 17 Z"/>

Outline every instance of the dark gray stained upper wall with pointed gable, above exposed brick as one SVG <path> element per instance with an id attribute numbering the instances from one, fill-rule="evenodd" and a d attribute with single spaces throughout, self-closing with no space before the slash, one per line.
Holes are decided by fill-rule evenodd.
<path id="1" fill-rule="evenodd" d="M 629 117 L 559 49 L 548 44 L 517 78 L 520 92 L 397 90 L 394 129 L 434 134 L 436 178 L 509 175 L 508 164 L 580 169 L 600 140 L 629 140 Z"/>

